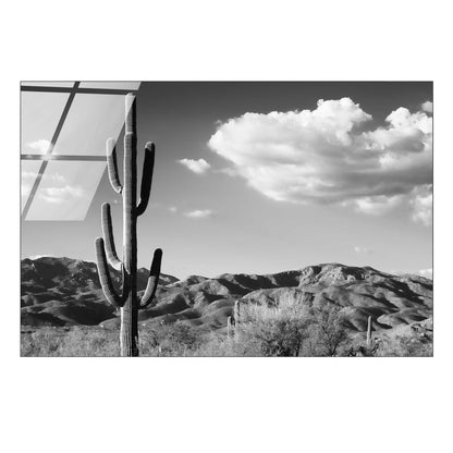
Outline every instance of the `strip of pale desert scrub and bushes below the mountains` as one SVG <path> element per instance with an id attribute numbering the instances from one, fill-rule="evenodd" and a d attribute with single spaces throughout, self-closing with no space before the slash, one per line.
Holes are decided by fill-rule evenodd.
<path id="1" fill-rule="evenodd" d="M 382 335 L 379 347 L 367 348 L 365 334 L 345 334 L 336 311 L 314 311 L 284 302 L 279 307 L 242 305 L 234 335 L 200 330 L 176 321 L 154 325 L 139 332 L 140 356 L 257 357 L 257 356 L 432 356 L 432 331 Z M 22 333 L 23 357 L 117 357 L 119 331 L 99 327 L 41 328 Z"/>

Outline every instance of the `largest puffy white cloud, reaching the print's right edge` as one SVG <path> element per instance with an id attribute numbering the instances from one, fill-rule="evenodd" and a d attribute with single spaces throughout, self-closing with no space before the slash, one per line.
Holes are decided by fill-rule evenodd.
<path id="1" fill-rule="evenodd" d="M 384 125 L 367 130 L 371 119 L 350 98 L 321 99 L 314 110 L 230 119 L 208 146 L 277 201 L 382 215 L 432 184 L 432 118 L 400 107 Z"/>

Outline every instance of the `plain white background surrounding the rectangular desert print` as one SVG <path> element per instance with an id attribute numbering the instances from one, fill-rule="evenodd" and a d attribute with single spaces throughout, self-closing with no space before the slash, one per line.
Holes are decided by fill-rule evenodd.
<path id="1" fill-rule="evenodd" d="M 3 452 L 450 451 L 448 4 L 3 2 Z M 434 81 L 434 358 L 21 359 L 21 78 Z"/>

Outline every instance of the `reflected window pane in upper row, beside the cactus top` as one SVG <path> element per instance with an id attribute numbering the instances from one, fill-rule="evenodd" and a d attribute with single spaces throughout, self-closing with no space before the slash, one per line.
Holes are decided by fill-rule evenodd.
<path id="1" fill-rule="evenodd" d="M 53 154 L 105 156 L 108 138 L 118 138 L 124 123 L 122 95 L 76 95 Z"/>

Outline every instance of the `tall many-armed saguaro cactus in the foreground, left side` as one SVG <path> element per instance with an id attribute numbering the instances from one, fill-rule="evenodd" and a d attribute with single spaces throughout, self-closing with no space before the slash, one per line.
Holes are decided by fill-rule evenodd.
<path id="1" fill-rule="evenodd" d="M 143 167 L 140 200 L 137 205 L 137 138 L 135 96 L 125 98 L 124 134 L 124 184 L 120 182 L 117 150 L 112 138 L 107 140 L 107 163 L 110 184 L 123 197 L 123 259 L 117 255 L 110 205 L 102 204 L 102 235 L 96 238 L 96 258 L 99 280 L 106 299 L 121 308 L 120 347 L 121 356 L 138 355 L 138 309 L 151 304 L 155 298 L 162 260 L 162 250 L 157 248 L 149 271 L 146 290 L 137 297 L 137 217 L 146 210 L 151 191 L 155 164 L 155 145 L 147 143 Z M 117 294 L 108 269 L 108 262 L 122 273 L 122 293 Z"/>

